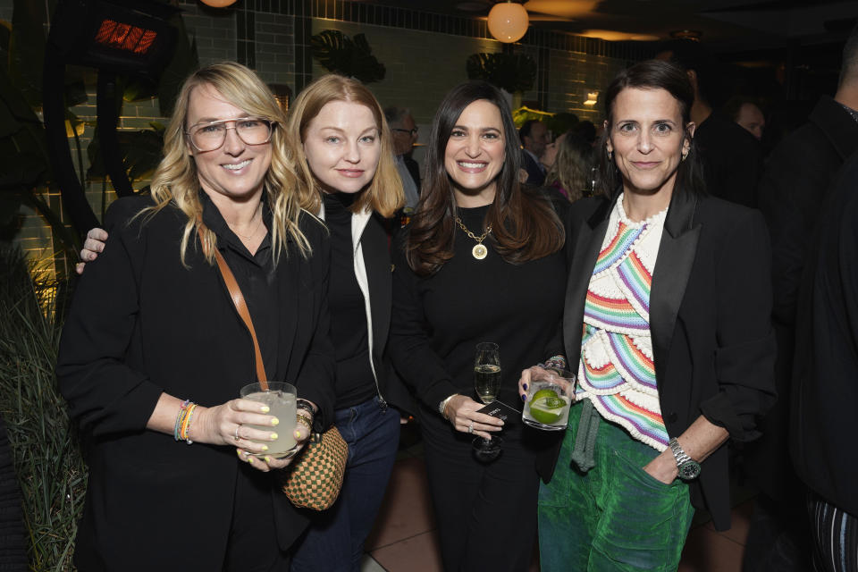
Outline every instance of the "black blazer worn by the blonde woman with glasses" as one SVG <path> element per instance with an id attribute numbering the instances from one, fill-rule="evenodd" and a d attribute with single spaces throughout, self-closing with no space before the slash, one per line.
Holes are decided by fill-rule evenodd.
<path id="1" fill-rule="evenodd" d="M 147 198 L 121 198 L 111 206 L 105 251 L 87 265 L 63 329 L 57 377 L 89 465 L 75 558 L 95 570 L 167 570 L 182 562 L 219 570 L 240 460 L 232 447 L 187 446 L 146 424 L 164 391 L 203 406 L 236 398 L 256 379 L 253 344 L 195 235 L 189 268 L 181 264 L 184 214 L 168 206 L 146 223 L 126 224 L 148 205 Z M 268 375 L 315 401 L 324 425 L 334 403 L 330 248 L 321 223 L 305 215 L 300 228 L 314 254 L 304 259 L 292 250 L 274 271 L 280 330 Z M 253 476 L 271 486 L 285 549 L 307 520 L 277 492 L 273 475 Z"/>

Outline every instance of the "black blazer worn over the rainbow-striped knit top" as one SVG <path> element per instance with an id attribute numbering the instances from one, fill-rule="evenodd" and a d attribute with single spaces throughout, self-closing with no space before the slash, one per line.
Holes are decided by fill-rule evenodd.
<path id="1" fill-rule="evenodd" d="M 572 205 L 564 343 L 571 367 L 581 356 L 587 288 L 608 229 L 613 202 L 587 198 Z M 759 435 L 756 418 L 775 399 L 774 336 L 770 326 L 768 233 L 757 211 L 718 198 L 675 193 L 652 275 L 650 329 L 661 415 L 671 437 L 706 416 L 730 437 Z M 547 483 L 557 448 L 540 458 Z M 694 505 L 729 527 L 728 452 L 715 451 L 691 486 Z"/>

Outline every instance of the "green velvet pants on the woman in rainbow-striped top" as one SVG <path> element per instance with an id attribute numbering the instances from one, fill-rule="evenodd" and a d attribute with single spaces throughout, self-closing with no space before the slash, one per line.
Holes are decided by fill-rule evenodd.
<path id="1" fill-rule="evenodd" d="M 595 467 L 571 462 L 582 405 L 569 424 L 550 484 L 539 491 L 539 554 L 543 572 L 676 570 L 694 509 L 688 485 L 663 484 L 643 467 L 658 451 L 604 419 Z"/>

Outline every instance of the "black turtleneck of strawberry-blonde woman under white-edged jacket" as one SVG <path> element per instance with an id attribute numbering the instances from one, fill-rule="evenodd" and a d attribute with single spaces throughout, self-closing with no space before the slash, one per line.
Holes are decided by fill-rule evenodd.
<path id="1" fill-rule="evenodd" d="M 324 222 L 331 231 L 331 279 L 328 307 L 331 340 L 337 358 L 337 402 L 348 408 L 375 395 L 366 330 L 366 302 L 355 276 L 355 251 L 351 240 L 354 195 L 324 195 Z"/>

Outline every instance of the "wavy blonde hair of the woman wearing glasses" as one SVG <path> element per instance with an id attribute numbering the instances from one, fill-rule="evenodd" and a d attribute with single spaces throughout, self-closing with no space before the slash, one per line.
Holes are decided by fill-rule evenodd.
<path id="1" fill-rule="evenodd" d="M 188 245 L 193 241 L 191 233 L 199 226 L 203 233 L 202 247 L 206 262 L 214 265 L 217 237 L 202 222 L 203 204 L 199 199 L 197 165 L 189 153 L 191 147 L 186 134 L 190 96 L 195 88 L 201 86 L 215 89 L 231 105 L 248 115 L 272 123 L 271 141 L 268 143 L 271 145 L 271 166 L 265 173 L 265 189 L 268 207 L 273 214 L 273 260 L 276 264 L 281 254 L 289 256 L 287 243 L 290 239 L 298 245 L 300 255 L 306 258 L 312 248 L 299 228 L 299 216 L 301 205 L 307 203 L 307 198 L 295 192 L 295 168 L 284 130 L 286 118 L 265 83 L 254 71 L 240 63 L 214 63 L 195 71 L 185 80 L 164 133 L 164 158 L 152 178 L 152 198 L 156 205 L 144 209 L 141 214 L 154 215 L 170 204 L 179 207 L 188 217 L 181 237 L 181 263 L 187 266 L 185 258 Z"/>

